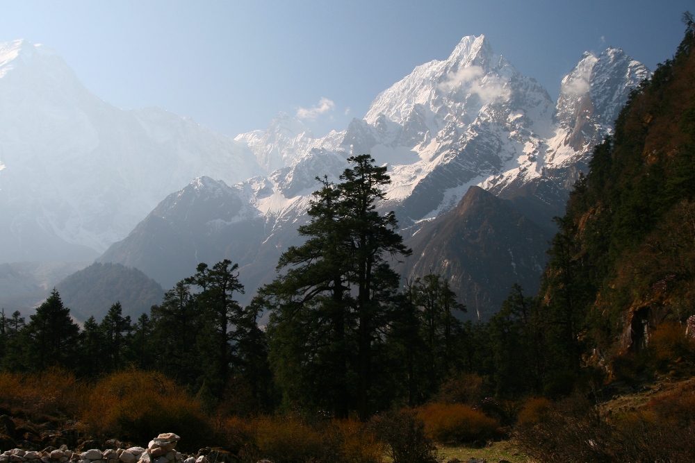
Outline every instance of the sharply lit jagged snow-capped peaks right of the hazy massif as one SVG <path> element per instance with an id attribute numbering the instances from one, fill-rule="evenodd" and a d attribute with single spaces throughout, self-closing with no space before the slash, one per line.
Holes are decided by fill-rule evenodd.
<path id="1" fill-rule="evenodd" d="M 553 217 L 630 90 L 649 74 L 621 49 L 584 53 L 555 104 L 537 81 L 496 55 L 486 37 L 469 36 L 446 60 L 416 67 L 379 94 L 364 119 L 353 119 L 343 132 L 315 138 L 281 114 L 265 131 L 236 140 L 271 168 L 324 153 L 370 153 L 389 165 L 389 206 L 404 224 L 452 208 L 471 185 L 521 208 L 535 198 L 553 206 Z M 546 221 L 542 214 L 534 218 Z"/>

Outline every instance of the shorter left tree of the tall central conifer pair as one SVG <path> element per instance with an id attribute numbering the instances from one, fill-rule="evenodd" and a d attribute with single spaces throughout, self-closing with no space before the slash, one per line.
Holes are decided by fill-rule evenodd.
<path id="1" fill-rule="evenodd" d="M 261 294 L 275 305 L 269 332 L 277 346 L 275 366 L 285 385 L 304 385 L 302 395 L 309 385 L 321 389 L 315 394 L 322 399 L 319 402 L 335 416 L 346 418 L 352 302 L 347 284 L 347 235 L 338 210 L 340 190 L 327 178 L 317 180 L 322 188 L 313 194 L 308 211 L 311 221 L 298 229 L 308 239 L 281 255 L 277 269 L 287 267 L 286 273 Z M 298 337 L 300 332 L 304 334 Z M 311 368 L 293 368 L 298 360 L 306 364 L 309 358 Z"/>

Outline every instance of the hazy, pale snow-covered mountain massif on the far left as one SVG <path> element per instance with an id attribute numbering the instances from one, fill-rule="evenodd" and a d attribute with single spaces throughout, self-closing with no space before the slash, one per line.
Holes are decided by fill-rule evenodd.
<path id="1" fill-rule="evenodd" d="M 0 44 L 0 262 L 93 259 L 191 178 L 263 172 L 247 144 L 115 108 L 51 49 Z"/>

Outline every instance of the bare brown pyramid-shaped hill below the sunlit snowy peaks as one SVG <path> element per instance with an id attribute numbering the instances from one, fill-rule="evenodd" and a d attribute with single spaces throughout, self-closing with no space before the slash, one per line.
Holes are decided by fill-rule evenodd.
<path id="1" fill-rule="evenodd" d="M 514 283 L 538 290 L 550 236 L 505 201 L 471 187 L 456 208 L 405 240 L 413 255 L 399 270 L 409 279 L 445 276 L 467 317 L 485 320 Z"/>

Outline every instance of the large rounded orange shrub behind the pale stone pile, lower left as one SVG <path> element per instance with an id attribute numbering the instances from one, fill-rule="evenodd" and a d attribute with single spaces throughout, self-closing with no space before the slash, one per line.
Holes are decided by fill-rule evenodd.
<path id="1" fill-rule="evenodd" d="M 147 442 L 160 432 L 181 436 L 183 450 L 214 439 L 201 404 L 161 373 L 113 373 L 95 385 L 81 412 L 83 429 L 95 437 Z"/>

